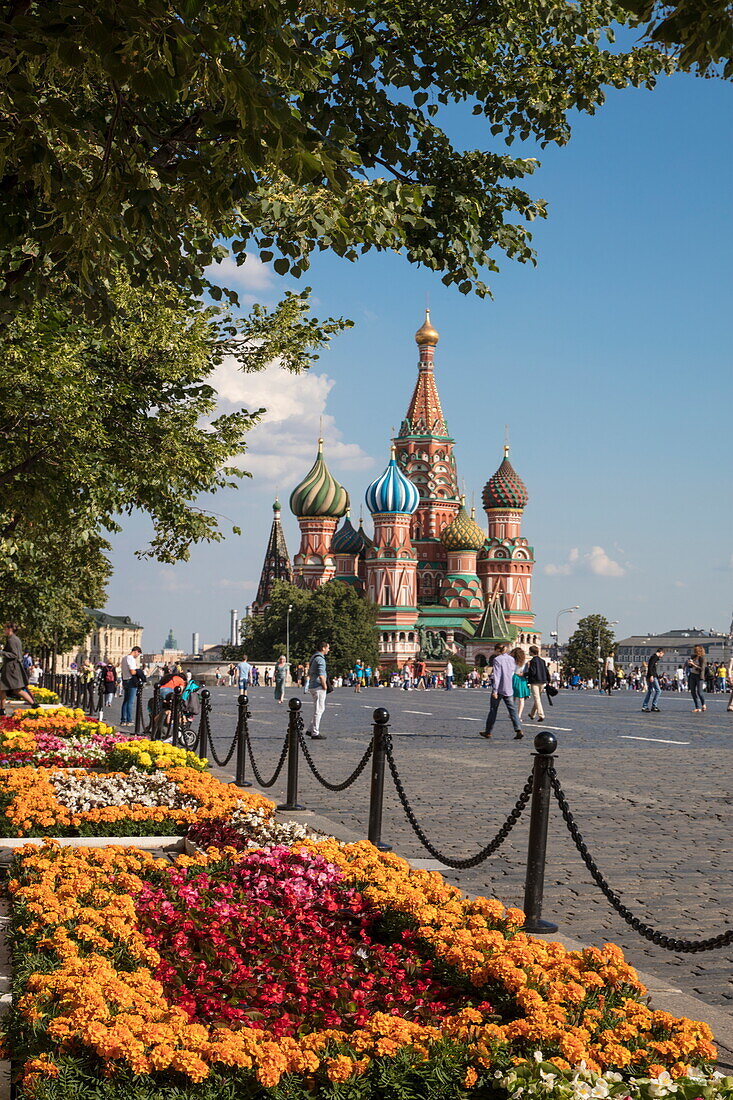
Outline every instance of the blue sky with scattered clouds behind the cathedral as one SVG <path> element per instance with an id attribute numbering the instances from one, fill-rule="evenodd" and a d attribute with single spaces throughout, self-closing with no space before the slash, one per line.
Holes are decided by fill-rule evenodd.
<path id="1" fill-rule="evenodd" d="M 358 514 L 389 457 L 416 377 L 414 332 L 429 299 L 440 332 L 437 380 L 471 499 L 502 455 L 527 484 L 523 532 L 535 547 L 535 610 L 547 636 L 559 608 L 619 619 L 617 635 L 727 629 L 733 513 L 727 453 L 733 252 L 732 88 L 690 76 L 652 92 L 611 91 L 564 148 L 537 153 L 527 189 L 538 265 L 500 264 L 494 300 L 464 297 L 398 256 L 315 258 L 305 285 L 317 316 L 350 317 L 309 375 L 221 369 L 222 407 L 267 405 L 243 465 L 253 473 L 210 507 L 242 536 L 175 566 L 141 562 L 147 524 L 125 519 L 113 548 L 108 609 L 145 627 L 145 649 L 173 627 L 219 641 L 230 607 L 251 603 L 276 488 L 286 502 L 326 454 Z M 470 144 L 478 123 L 455 111 Z M 515 150 L 516 146 L 513 146 Z M 256 261 L 234 275 L 244 301 L 285 284 Z M 284 507 L 291 554 L 297 525 Z M 572 619 L 566 616 L 567 632 Z"/>

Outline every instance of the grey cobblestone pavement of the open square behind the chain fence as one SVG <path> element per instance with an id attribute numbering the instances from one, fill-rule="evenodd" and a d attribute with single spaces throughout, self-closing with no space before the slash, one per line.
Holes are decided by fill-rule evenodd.
<path id="1" fill-rule="evenodd" d="M 233 734 L 236 695 L 234 689 L 212 691 L 212 729 L 221 749 Z M 462 858 L 494 835 L 532 769 L 537 727 L 525 722 L 525 739 L 514 741 L 506 716 L 500 715 L 494 738 L 485 741 L 479 730 L 488 702 L 484 692 L 460 689 L 361 694 L 341 689 L 329 696 L 321 725 L 327 739 L 311 751 L 327 779 L 343 779 L 368 745 L 373 708 L 386 706 L 395 757 L 418 821 L 438 848 Z M 708 702 L 707 714 L 692 714 L 688 695 L 665 693 L 660 714 L 642 714 L 641 696 L 631 691 L 611 698 L 564 692 L 547 708 L 544 726 L 556 732 L 557 771 L 601 871 L 642 920 L 683 938 L 733 925 L 733 715 L 725 711 L 725 696 Z M 277 706 L 264 688 L 251 691 L 250 707 L 255 757 L 261 771 L 272 773 L 287 707 Z M 284 773 L 267 793 L 284 801 Z M 365 835 L 369 771 L 333 794 L 316 783 L 302 760 L 300 801 Z M 470 871 L 446 869 L 446 878 L 469 892 L 521 905 L 527 825 L 525 814 L 495 856 Z M 389 777 L 383 837 L 403 856 L 428 855 Z M 633 964 L 670 988 L 733 1009 L 733 949 L 675 955 L 638 937 L 590 880 L 555 803 L 544 915 L 583 943 L 621 944 Z"/>

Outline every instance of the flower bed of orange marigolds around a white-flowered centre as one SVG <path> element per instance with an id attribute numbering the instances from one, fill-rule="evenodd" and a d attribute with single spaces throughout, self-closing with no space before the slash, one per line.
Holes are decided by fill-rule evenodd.
<path id="1" fill-rule="evenodd" d="M 226 817 L 242 804 L 272 806 L 192 768 L 0 772 L 0 836 L 182 836 L 195 822 Z"/>

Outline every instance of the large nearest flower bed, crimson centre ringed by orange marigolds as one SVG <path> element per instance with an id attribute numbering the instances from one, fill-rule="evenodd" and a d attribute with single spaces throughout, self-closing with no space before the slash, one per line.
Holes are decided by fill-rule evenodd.
<path id="1" fill-rule="evenodd" d="M 200 777 L 198 777 L 200 778 Z M 40 1100 L 733 1097 L 617 947 L 568 952 L 366 843 L 24 849 L 6 1043 Z"/>

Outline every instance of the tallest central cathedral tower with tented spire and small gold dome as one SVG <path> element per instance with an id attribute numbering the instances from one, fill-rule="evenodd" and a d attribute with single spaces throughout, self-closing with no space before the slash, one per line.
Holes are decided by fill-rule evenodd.
<path id="1" fill-rule="evenodd" d="M 407 416 L 395 440 L 400 469 L 419 493 L 419 505 L 411 525 L 419 564 L 417 597 L 435 604 L 447 569 L 440 535 L 460 508 L 455 440 L 448 435 L 435 382 L 435 349 L 439 337 L 426 309 L 425 321 L 415 333 L 419 349 L 417 382 Z"/>

